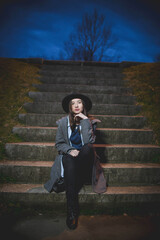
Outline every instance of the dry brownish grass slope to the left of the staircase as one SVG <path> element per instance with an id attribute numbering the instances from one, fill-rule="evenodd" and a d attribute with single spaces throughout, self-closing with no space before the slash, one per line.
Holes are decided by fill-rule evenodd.
<path id="1" fill-rule="evenodd" d="M 39 83 L 39 68 L 20 60 L 0 58 L 0 160 L 6 157 L 7 142 L 21 141 L 12 134 L 12 128 L 20 125 L 18 114 L 25 112 L 23 104 L 32 101 L 27 94 L 36 90 L 32 84 Z"/>

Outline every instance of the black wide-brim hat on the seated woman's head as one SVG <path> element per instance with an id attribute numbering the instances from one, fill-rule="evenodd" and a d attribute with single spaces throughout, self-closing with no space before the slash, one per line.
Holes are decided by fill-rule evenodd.
<path id="1" fill-rule="evenodd" d="M 64 97 L 62 100 L 62 107 L 66 113 L 69 112 L 69 102 L 74 98 L 80 98 L 81 100 L 84 101 L 87 112 L 89 112 L 91 110 L 92 102 L 87 96 L 85 96 L 81 93 L 71 93 L 71 94 L 67 95 L 66 97 Z"/>

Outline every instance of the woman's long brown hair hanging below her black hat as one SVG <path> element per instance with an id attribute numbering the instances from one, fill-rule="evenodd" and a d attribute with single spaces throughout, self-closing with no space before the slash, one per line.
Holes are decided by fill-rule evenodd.
<path id="1" fill-rule="evenodd" d="M 81 100 L 81 101 L 83 104 L 82 113 L 88 117 L 88 113 L 85 108 L 85 102 L 83 100 Z M 79 124 L 79 120 L 75 120 L 75 118 L 74 118 L 74 113 L 72 112 L 72 100 L 69 102 L 69 122 L 70 122 L 70 127 L 71 127 L 72 131 L 74 131 L 76 124 Z"/>

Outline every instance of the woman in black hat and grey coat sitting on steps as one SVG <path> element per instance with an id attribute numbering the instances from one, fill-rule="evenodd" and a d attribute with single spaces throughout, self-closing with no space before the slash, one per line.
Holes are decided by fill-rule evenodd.
<path id="1" fill-rule="evenodd" d="M 70 229 L 78 224 L 78 193 L 84 183 L 91 183 L 97 193 L 106 191 L 106 181 L 93 148 L 98 120 L 89 119 L 87 112 L 92 108 L 91 100 L 82 94 L 66 96 L 62 107 L 69 115 L 58 121 L 56 148 L 59 155 L 51 169 L 51 179 L 44 185 L 49 191 L 56 191 L 57 182 L 65 183 L 67 198 L 67 220 Z M 62 189 L 63 191 L 64 189 Z"/>

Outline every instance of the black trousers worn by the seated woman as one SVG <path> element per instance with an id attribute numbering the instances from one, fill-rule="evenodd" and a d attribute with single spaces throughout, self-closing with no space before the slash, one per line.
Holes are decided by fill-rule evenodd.
<path id="1" fill-rule="evenodd" d="M 92 144 L 83 145 L 77 157 L 63 156 L 64 181 L 67 206 L 74 209 L 78 205 L 78 193 L 84 183 L 91 183 L 94 150 Z"/>

